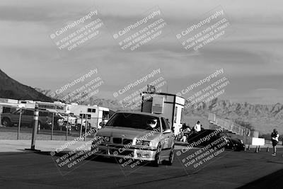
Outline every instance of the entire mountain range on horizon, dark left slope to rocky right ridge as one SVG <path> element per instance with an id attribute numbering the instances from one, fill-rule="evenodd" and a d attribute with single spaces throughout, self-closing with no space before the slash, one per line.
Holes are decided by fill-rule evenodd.
<path id="1" fill-rule="evenodd" d="M 56 99 L 60 98 L 60 96 L 51 98 L 51 93 L 51 90 L 25 86 L 11 79 L 11 77 L 7 76 L 4 71 L 0 69 L 0 98 L 29 99 L 47 102 L 56 101 Z M 120 103 L 105 98 L 91 97 L 83 101 L 83 104 L 99 105 L 114 111 L 121 109 Z M 283 105 L 280 103 L 272 105 L 253 105 L 246 102 L 236 103 L 214 98 L 206 104 L 202 103 L 200 108 L 195 109 L 192 106 L 185 108 L 184 120 L 189 122 L 190 125 L 195 124 L 195 120 L 204 120 L 205 124 L 208 124 L 208 113 L 215 113 L 219 117 L 229 120 L 240 119 L 249 122 L 255 130 L 259 130 L 261 133 L 270 133 L 273 128 L 277 128 L 279 132 L 283 133 Z"/>

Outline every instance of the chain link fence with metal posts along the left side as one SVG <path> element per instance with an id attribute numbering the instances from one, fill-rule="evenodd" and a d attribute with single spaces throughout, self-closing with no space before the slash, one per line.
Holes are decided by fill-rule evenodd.
<path id="1" fill-rule="evenodd" d="M 31 139 L 33 134 L 33 109 L 14 108 L 0 105 L 0 139 Z M 36 139 L 72 140 L 83 137 L 91 130 L 87 118 L 40 110 Z M 87 125 L 87 126 L 86 126 Z M 93 138 L 95 132 L 84 140 Z"/>

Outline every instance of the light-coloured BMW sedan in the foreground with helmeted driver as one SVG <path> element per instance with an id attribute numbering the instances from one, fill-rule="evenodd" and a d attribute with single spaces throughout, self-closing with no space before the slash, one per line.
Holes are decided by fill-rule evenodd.
<path id="1" fill-rule="evenodd" d="M 118 112 L 100 126 L 95 139 L 103 143 L 94 140 L 91 147 L 96 156 L 151 161 L 154 166 L 173 164 L 174 134 L 162 115 Z"/>

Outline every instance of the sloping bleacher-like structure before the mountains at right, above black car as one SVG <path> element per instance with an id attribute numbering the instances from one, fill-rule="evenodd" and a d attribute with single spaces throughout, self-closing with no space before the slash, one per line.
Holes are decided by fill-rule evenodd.
<path id="1" fill-rule="evenodd" d="M 224 130 L 229 130 L 230 132 L 234 132 L 239 135 L 250 136 L 250 130 L 248 128 L 238 125 L 231 120 L 218 118 L 214 113 L 209 113 L 208 120 L 212 124 L 222 127 Z"/>

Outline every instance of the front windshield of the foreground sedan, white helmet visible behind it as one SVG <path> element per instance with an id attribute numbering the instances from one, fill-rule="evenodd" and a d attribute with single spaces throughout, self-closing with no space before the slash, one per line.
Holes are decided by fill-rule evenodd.
<path id="1" fill-rule="evenodd" d="M 158 130 L 158 132 L 160 132 L 160 122 L 158 118 L 134 113 L 116 113 L 107 122 L 105 127 L 107 126 L 129 127 L 141 130 Z"/>

